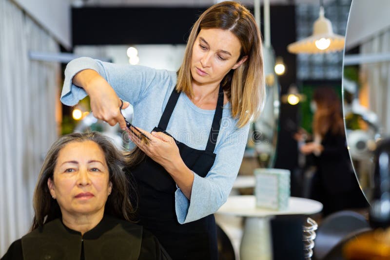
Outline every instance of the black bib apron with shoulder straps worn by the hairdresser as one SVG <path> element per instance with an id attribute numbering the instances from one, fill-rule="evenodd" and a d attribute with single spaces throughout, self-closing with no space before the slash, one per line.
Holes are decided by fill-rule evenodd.
<path id="1" fill-rule="evenodd" d="M 154 131 L 164 132 L 175 109 L 180 93 L 174 88 Z M 214 165 L 215 143 L 222 119 L 223 90 L 220 87 L 212 128 L 206 150 L 198 150 L 176 141 L 180 156 L 187 167 L 201 177 Z M 218 255 L 214 215 L 179 224 L 175 211 L 176 183 L 169 173 L 146 156 L 132 174 L 138 187 L 140 224 L 151 231 L 174 260 L 216 260 Z"/>

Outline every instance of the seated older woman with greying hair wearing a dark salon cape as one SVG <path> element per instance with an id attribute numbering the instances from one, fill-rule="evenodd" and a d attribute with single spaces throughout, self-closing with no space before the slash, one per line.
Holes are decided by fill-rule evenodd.
<path id="1" fill-rule="evenodd" d="M 133 190 L 122 167 L 122 155 L 103 135 L 61 136 L 39 174 L 32 231 L 2 259 L 171 259 L 156 237 L 130 222 Z"/>

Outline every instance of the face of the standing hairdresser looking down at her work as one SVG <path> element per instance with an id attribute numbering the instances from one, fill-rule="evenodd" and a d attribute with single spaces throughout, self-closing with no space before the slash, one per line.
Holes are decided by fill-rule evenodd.
<path id="1" fill-rule="evenodd" d="M 246 60 L 238 60 L 241 43 L 228 30 L 201 29 L 192 48 L 193 84 L 219 84 L 223 77 Z"/>

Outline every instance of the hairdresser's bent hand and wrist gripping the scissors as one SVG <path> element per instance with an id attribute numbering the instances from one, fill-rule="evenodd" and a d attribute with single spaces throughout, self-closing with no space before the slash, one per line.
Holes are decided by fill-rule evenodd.
<path id="1" fill-rule="evenodd" d="M 119 123 L 126 130 L 126 122 L 119 111 L 121 101 L 108 82 L 94 70 L 80 71 L 73 77 L 73 83 L 82 87 L 90 96 L 91 109 L 94 116 L 115 126 Z M 123 102 L 122 109 L 130 104 Z"/>

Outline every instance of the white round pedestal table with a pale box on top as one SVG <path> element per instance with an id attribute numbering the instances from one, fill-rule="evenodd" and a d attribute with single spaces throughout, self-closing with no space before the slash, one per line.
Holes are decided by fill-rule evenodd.
<path id="1" fill-rule="evenodd" d="M 253 195 L 229 196 L 215 213 L 224 216 L 244 217 L 245 226 L 240 243 L 240 260 L 271 260 L 271 230 L 269 220 L 275 215 L 311 215 L 322 210 L 322 204 L 305 198 L 290 197 L 286 210 L 256 207 Z M 223 225 L 221 225 L 222 228 Z M 226 231 L 226 230 L 225 230 Z"/>

